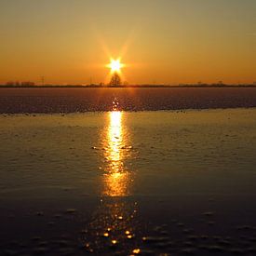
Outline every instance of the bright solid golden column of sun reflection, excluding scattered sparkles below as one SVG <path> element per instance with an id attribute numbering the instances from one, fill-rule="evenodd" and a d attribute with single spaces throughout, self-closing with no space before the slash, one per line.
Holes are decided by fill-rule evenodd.
<path id="1" fill-rule="evenodd" d="M 108 167 L 104 175 L 105 188 L 103 195 L 128 195 L 129 175 L 124 168 L 124 128 L 122 124 L 123 113 L 113 111 L 109 113 L 109 126 L 107 131 L 107 150 L 105 157 Z"/>

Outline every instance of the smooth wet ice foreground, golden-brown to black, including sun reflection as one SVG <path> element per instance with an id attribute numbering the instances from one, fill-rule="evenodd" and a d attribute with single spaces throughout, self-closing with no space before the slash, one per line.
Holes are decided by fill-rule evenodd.
<path id="1" fill-rule="evenodd" d="M 20 253 L 253 251 L 255 117 L 1 115 L 1 244 Z"/>

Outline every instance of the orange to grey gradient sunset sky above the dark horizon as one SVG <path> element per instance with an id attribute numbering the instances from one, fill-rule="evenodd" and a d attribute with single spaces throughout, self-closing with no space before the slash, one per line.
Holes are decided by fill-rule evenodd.
<path id="1" fill-rule="evenodd" d="M 0 83 L 256 81 L 255 0 L 0 0 Z"/>

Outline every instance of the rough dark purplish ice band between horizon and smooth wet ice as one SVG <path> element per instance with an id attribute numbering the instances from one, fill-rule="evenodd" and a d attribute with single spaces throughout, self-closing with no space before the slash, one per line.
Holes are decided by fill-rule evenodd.
<path id="1" fill-rule="evenodd" d="M 256 107 L 256 88 L 0 88 L 0 113 Z"/>

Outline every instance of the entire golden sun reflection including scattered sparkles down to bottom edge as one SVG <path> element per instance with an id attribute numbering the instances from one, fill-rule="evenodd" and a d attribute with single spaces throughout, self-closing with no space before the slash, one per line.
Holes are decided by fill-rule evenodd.
<path id="1" fill-rule="evenodd" d="M 89 236 L 85 245 L 89 252 L 97 255 L 108 252 L 114 255 L 135 255 L 141 252 L 137 235 L 140 222 L 137 220 L 138 203 L 131 199 L 131 185 L 134 170 L 128 165 L 133 158 L 132 146 L 126 114 L 114 111 L 106 116 L 106 126 L 102 129 L 101 143 L 104 149 L 104 167 L 101 187 L 101 204 L 94 212 L 92 222 L 88 224 Z M 135 238 L 136 237 L 136 238 Z M 138 240 L 137 240 L 138 239 Z M 115 255 L 117 255 L 115 254 Z M 105 255 L 105 254 L 104 254 Z"/>

